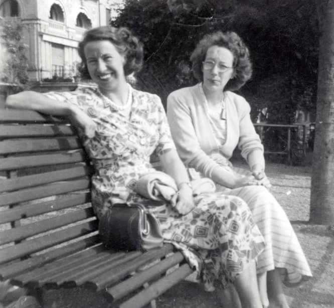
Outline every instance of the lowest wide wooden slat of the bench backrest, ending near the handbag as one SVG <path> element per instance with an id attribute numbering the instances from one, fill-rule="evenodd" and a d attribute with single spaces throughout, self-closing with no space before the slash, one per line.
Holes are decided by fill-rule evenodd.
<path id="1" fill-rule="evenodd" d="M 69 241 L 97 230 L 97 221 L 84 222 L 79 225 L 57 231 L 34 240 L 29 240 L 0 250 L 0 264 L 12 261 L 31 253 Z"/>

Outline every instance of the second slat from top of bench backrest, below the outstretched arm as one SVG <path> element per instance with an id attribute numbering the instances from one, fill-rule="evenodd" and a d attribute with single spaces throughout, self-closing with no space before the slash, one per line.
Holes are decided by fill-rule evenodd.
<path id="1" fill-rule="evenodd" d="M 73 128 L 68 125 L 0 125 L 0 138 L 72 136 Z"/>

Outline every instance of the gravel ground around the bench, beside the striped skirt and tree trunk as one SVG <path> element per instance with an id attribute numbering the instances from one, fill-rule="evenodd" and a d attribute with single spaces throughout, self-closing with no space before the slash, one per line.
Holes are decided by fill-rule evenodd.
<path id="1" fill-rule="evenodd" d="M 234 166 L 247 168 L 234 162 Z M 297 288 L 285 288 L 290 308 L 334 307 L 334 228 L 310 225 L 311 167 L 267 164 L 271 191 L 289 217 L 311 267 L 313 278 Z M 163 308 L 218 308 L 218 298 L 194 282 L 194 275 L 159 299 Z"/>

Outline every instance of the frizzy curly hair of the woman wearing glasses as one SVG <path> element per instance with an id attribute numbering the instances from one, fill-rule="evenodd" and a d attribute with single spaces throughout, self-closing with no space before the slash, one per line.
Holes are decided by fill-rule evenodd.
<path id="1" fill-rule="evenodd" d="M 224 91 L 240 89 L 252 76 L 252 63 L 249 59 L 248 48 L 235 32 L 218 31 L 203 37 L 190 57 L 194 76 L 199 81 L 203 81 L 202 63 L 208 49 L 212 46 L 225 47 L 233 54 L 235 76 L 228 81 Z"/>

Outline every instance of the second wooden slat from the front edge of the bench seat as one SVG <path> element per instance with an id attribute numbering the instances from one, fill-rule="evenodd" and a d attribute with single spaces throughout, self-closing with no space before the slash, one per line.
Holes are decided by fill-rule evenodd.
<path id="1" fill-rule="evenodd" d="M 183 256 L 183 254 L 180 251 L 178 251 L 173 255 L 169 256 L 168 258 L 165 258 L 161 262 L 158 262 L 155 265 L 145 269 L 139 274 L 134 275 L 129 279 L 126 279 L 123 282 L 118 283 L 111 288 L 108 288 L 107 293 L 105 295 L 107 297 L 110 297 L 111 301 L 116 301 L 122 298 L 123 296 L 135 291 L 145 282 L 157 278 L 162 273 L 166 272 L 168 269 L 182 262 L 184 258 L 185 257 Z"/>

